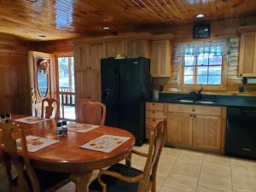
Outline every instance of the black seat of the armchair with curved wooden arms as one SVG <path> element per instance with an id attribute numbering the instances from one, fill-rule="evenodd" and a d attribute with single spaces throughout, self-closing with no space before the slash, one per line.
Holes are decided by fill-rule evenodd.
<path id="1" fill-rule="evenodd" d="M 115 164 L 114 166 L 109 167 L 108 171 L 119 172 L 126 177 L 136 177 L 143 173 L 142 171 L 132 168 L 131 166 L 125 166 L 123 164 Z M 137 192 L 138 183 L 127 183 L 119 178 L 108 175 L 102 175 L 102 181 L 107 183 L 108 192 Z M 102 191 L 102 186 L 100 183 L 98 183 L 97 179 L 95 179 L 90 184 L 89 189 Z"/>

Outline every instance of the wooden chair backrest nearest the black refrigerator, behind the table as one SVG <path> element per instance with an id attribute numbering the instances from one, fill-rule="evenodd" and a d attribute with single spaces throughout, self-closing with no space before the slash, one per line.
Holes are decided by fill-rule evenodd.
<path id="1" fill-rule="evenodd" d="M 104 125 L 106 106 L 102 102 L 82 102 L 81 123 L 90 125 Z"/>

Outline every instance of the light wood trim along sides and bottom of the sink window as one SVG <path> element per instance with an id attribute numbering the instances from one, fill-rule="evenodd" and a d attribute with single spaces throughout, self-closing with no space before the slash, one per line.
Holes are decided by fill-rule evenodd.
<path id="1" fill-rule="evenodd" d="M 222 55 L 221 84 L 184 84 L 184 56 L 180 56 L 181 63 L 177 67 L 177 88 L 184 90 L 204 89 L 204 90 L 227 90 L 228 76 L 228 56 Z M 196 67 L 195 67 L 196 68 Z M 196 70 L 196 69 L 195 69 Z M 196 75 L 194 76 L 196 77 Z"/>

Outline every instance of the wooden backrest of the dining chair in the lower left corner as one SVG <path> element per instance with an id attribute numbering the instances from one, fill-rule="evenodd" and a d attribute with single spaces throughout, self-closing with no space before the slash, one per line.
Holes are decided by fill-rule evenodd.
<path id="1" fill-rule="evenodd" d="M 0 159 L 3 163 L 3 169 L 8 177 L 9 191 L 30 191 L 29 186 L 32 185 L 32 191 L 39 192 L 40 184 L 27 156 L 26 137 L 22 128 L 20 125 L 16 124 L 0 123 L 0 130 L 2 130 L 1 141 L 3 143 L 3 150 L 0 150 Z M 17 142 L 17 138 L 20 138 L 20 141 Z M 17 147 L 22 148 L 19 153 Z M 11 171 L 12 166 L 15 167 L 15 171 L 18 174 L 18 180 L 15 186 Z M 31 183 L 27 183 L 26 177 L 29 178 Z"/>

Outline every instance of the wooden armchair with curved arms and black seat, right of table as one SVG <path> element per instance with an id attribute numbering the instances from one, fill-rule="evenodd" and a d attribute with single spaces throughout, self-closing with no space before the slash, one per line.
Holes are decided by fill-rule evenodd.
<path id="1" fill-rule="evenodd" d="M 148 192 L 156 191 L 156 172 L 160 154 L 166 137 L 166 117 L 152 127 L 148 154 L 132 150 L 147 158 L 143 171 L 126 165 L 115 164 L 108 170 L 101 170 L 98 177 L 90 184 L 90 190 L 102 192 Z"/>

